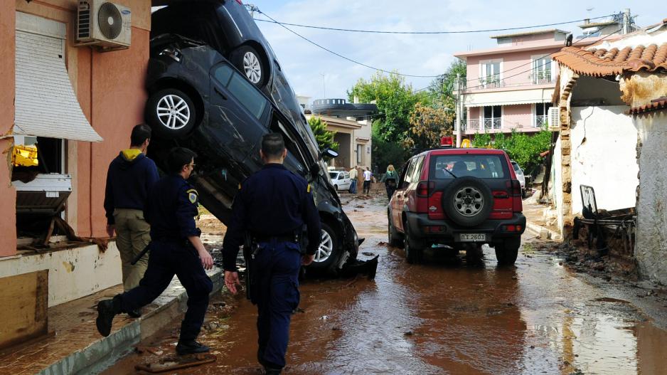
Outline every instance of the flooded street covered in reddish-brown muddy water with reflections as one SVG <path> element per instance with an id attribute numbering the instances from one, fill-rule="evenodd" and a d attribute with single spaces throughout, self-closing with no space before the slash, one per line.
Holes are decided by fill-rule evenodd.
<path id="1" fill-rule="evenodd" d="M 529 232 L 513 268 L 498 268 L 490 248 L 481 263 L 432 249 L 409 265 L 385 243 L 383 196 L 343 201 L 378 273 L 303 282 L 285 374 L 667 374 L 667 332 L 649 313 L 665 302 L 644 306 L 636 290 L 568 270 Z M 255 307 L 243 295 L 216 301 L 201 341 L 218 360 L 170 374 L 262 374 Z M 105 374 L 172 354 L 178 324 Z"/>

